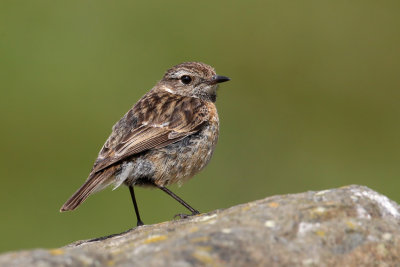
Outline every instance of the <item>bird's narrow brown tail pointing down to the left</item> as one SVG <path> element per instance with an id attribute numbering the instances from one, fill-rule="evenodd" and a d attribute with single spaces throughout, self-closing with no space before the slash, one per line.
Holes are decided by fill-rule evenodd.
<path id="1" fill-rule="evenodd" d="M 110 171 L 110 169 L 106 169 L 103 172 L 91 174 L 86 182 L 64 203 L 60 212 L 76 209 L 91 194 L 112 184 L 113 179 Z"/>

